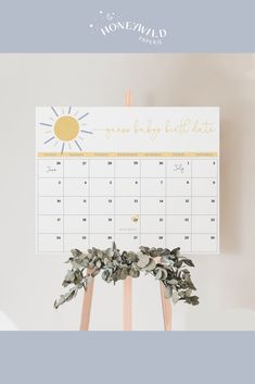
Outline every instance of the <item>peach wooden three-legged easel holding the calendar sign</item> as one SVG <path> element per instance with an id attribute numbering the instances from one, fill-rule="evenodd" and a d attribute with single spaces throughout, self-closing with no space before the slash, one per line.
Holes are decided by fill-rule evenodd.
<path id="1" fill-rule="evenodd" d="M 125 106 L 131 107 L 131 92 L 130 89 L 127 90 L 125 95 Z M 88 273 L 91 271 L 88 270 Z M 92 305 L 92 296 L 93 296 L 93 284 L 94 282 L 88 285 L 87 292 L 84 293 L 84 301 L 82 301 L 82 311 L 80 319 L 80 331 L 89 330 L 90 322 L 90 313 L 91 313 L 91 305 Z M 165 298 L 164 295 L 165 287 L 161 283 L 161 299 L 162 299 L 162 311 L 164 319 L 164 330 L 171 330 L 171 307 L 170 301 Z M 124 281 L 124 292 L 123 292 L 123 330 L 131 331 L 132 329 L 132 278 L 127 277 Z"/>

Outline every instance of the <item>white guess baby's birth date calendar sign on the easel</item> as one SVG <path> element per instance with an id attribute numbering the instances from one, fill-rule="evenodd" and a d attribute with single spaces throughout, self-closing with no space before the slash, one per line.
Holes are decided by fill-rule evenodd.
<path id="1" fill-rule="evenodd" d="M 37 252 L 219 251 L 218 108 L 37 108 Z"/>

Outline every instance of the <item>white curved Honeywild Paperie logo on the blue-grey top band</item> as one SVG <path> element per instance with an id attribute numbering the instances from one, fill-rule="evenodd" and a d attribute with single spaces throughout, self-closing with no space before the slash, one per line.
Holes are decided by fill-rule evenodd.
<path id="1" fill-rule="evenodd" d="M 139 21 L 126 20 L 115 12 L 99 11 L 98 17 L 89 24 L 93 33 L 107 37 L 113 34 L 128 33 L 138 38 L 140 42 L 149 45 L 163 45 L 167 36 L 167 30 L 163 27 L 145 25 Z"/>

